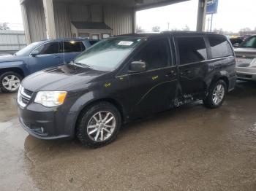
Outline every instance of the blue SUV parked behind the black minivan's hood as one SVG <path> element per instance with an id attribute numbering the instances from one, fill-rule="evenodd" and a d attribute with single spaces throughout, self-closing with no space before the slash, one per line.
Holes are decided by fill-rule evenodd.
<path id="1" fill-rule="evenodd" d="M 68 63 L 90 46 L 89 39 L 45 40 L 29 44 L 15 55 L 0 57 L 0 88 L 5 93 L 14 93 L 23 77 Z"/>

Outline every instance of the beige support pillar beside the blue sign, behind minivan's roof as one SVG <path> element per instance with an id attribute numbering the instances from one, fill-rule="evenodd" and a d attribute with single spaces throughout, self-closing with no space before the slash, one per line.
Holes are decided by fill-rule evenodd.
<path id="1" fill-rule="evenodd" d="M 207 0 L 198 0 L 197 31 L 205 31 Z"/>

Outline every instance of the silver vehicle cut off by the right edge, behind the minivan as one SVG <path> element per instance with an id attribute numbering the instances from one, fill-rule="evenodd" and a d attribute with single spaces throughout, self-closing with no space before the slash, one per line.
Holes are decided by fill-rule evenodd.
<path id="1" fill-rule="evenodd" d="M 246 39 L 235 52 L 238 79 L 256 81 L 256 35 Z"/>

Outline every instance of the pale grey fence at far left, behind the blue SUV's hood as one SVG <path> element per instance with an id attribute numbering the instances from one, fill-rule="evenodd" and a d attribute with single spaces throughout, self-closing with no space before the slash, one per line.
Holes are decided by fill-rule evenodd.
<path id="1" fill-rule="evenodd" d="M 0 31 L 0 54 L 17 52 L 23 47 L 26 47 L 24 31 Z"/>

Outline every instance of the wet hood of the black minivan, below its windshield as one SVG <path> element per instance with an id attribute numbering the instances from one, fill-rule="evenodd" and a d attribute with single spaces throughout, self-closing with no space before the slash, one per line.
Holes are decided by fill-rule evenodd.
<path id="1" fill-rule="evenodd" d="M 73 90 L 92 82 L 108 71 L 96 71 L 74 65 L 64 65 L 39 71 L 23 79 L 25 89 L 33 92 L 50 90 Z"/>

